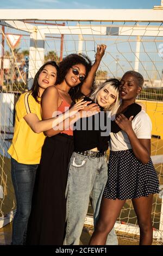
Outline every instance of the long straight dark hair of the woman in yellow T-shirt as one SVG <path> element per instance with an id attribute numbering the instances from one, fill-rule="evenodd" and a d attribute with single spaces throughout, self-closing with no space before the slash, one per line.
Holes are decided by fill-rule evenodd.
<path id="1" fill-rule="evenodd" d="M 56 62 L 53 62 L 53 61 L 50 61 L 50 62 L 46 62 L 45 64 L 43 64 L 41 66 L 41 68 L 37 71 L 36 75 L 35 75 L 35 78 L 34 78 L 34 81 L 33 81 L 33 86 L 31 88 L 31 91 L 32 91 L 32 96 L 34 97 L 35 101 L 39 102 L 40 101 L 37 99 L 37 97 L 39 96 L 39 75 L 41 73 L 41 71 L 45 68 L 45 66 L 47 65 L 52 65 L 55 67 L 55 69 L 57 69 L 57 76 L 58 76 L 58 65 Z"/>

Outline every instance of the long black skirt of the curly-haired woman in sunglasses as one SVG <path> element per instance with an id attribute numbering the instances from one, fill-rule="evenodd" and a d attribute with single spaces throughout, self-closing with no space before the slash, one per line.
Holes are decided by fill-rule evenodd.
<path id="1" fill-rule="evenodd" d="M 73 136 L 59 133 L 47 137 L 37 172 L 27 245 L 62 245 L 65 236 L 68 163 Z"/>

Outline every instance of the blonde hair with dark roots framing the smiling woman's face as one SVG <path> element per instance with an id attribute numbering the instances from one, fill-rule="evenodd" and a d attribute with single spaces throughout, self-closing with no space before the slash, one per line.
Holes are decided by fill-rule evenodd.
<path id="1" fill-rule="evenodd" d="M 104 83 L 102 83 L 100 86 L 96 88 L 96 90 L 91 94 L 90 98 L 97 102 L 97 96 L 100 90 L 104 90 L 105 87 L 111 86 L 114 89 L 114 92 L 116 93 L 116 100 L 114 103 L 112 103 L 110 106 L 105 107 L 104 111 L 111 111 L 111 114 L 116 114 L 117 108 L 120 106 L 120 99 L 119 99 L 119 92 L 118 92 L 118 87 L 120 85 L 120 81 L 117 80 L 116 78 L 110 78 L 106 80 Z"/>

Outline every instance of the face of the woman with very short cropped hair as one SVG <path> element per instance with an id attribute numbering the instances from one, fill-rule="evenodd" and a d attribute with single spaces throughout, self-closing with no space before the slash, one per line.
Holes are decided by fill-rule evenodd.
<path id="1" fill-rule="evenodd" d="M 124 75 L 120 81 L 119 92 L 122 100 L 134 100 L 141 92 L 139 81 L 131 74 Z"/>

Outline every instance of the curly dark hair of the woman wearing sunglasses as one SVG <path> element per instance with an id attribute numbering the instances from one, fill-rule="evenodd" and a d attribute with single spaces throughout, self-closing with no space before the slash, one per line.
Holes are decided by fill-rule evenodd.
<path id="1" fill-rule="evenodd" d="M 66 77 L 67 72 L 70 70 L 70 68 L 77 64 L 83 64 L 85 66 L 85 70 L 86 70 L 85 79 L 86 79 L 92 67 L 91 60 L 85 54 L 72 53 L 66 56 L 59 63 L 59 72 L 58 72 L 56 84 L 62 83 Z M 76 95 L 80 93 L 80 89 L 82 87 L 83 82 L 84 81 L 82 81 L 77 86 L 70 89 L 69 94 L 73 100 L 76 98 Z"/>

